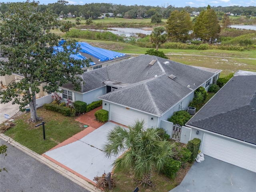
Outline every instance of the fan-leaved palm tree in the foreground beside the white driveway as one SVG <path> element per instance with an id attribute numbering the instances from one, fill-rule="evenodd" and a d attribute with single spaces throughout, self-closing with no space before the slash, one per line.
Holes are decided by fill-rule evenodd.
<path id="1" fill-rule="evenodd" d="M 108 132 L 103 152 L 107 158 L 124 153 L 113 162 L 114 172 L 131 168 L 136 179 L 151 185 L 150 173 L 163 168 L 166 159 L 174 155 L 173 147 L 160 138 L 158 129 L 145 129 L 144 120 L 137 120 L 133 126 L 117 125 Z"/>

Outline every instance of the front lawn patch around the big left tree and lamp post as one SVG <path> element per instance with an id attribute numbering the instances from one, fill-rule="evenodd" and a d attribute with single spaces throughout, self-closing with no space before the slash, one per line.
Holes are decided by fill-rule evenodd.
<path id="1" fill-rule="evenodd" d="M 83 130 L 81 124 L 76 122 L 74 118 L 62 116 L 56 112 L 47 111 L 44 108 L 38 108 L 38 116 L 42 116 L 46 122 L 46 140 L 43 139 L 42 126 L 35 127 L 40 122 L 28 122 L 29 113 L 23 114 L 17 120 L 15 119 L 14 123 L 16 126 L 10 128 L 4 134 L 32 151 L 43 154 Z"/>

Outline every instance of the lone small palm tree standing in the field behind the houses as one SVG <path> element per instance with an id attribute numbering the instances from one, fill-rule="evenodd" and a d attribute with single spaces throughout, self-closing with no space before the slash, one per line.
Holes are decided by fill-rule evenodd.
<path id="1" fill-rule="evenodd" d="M 149 36 L 150 41 L 152 43 L 156 43 L 157 51 L 158 51 L 159 43 L 164 43 L 166 41 L 166 34 L 164 32 L 165 32 L 164 27 L 162 27 L 162 26 L 155 27 Z"/>

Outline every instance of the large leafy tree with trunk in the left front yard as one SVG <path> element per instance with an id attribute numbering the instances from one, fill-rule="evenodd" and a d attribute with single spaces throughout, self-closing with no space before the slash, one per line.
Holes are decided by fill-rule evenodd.
<path id="1" fill-rule="evenodd" d="M 63 50 L 54 51 L 59 36 L 50 29 L 59 26 L 57 16 L 51 11 L 37 11 L 38 2 L 10 4 L 10 12 L 3 14 L 0 22 L 0 42 L 2 57 L 0 75 L 21 74 L 23 78 L 13 79 L 7 90 L 0 92 L 1 103 L 19 104 L 20 110 L 29 104 L 30 119 L 39 120 L 36 113 L 36 93 L 43 86 L 45 92 L 58 90 L 67 82 L 80 88 L 81 66 L 88 60 L 76 60 L 79 47 L 67 40 Z M 10 14 L 12 13 L 12 14 Z"/>

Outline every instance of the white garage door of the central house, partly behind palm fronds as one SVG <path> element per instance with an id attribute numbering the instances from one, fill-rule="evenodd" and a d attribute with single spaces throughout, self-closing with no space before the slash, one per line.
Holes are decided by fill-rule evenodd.
<path id="1" fill-rule="evenodd" d="M 145 127 L 148 128 L 148 115 L 122 106 L 110 105 L 110 120 L 123 124 L 133 125 L 135 120 L 144 119 Z"/>

